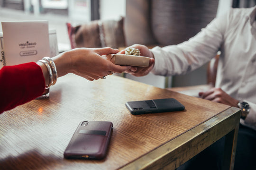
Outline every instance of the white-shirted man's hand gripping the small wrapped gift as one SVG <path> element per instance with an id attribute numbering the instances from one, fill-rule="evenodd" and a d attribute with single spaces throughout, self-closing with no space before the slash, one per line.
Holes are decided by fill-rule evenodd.
<path id="1" fill-rule="evenodd" d="M 129 73 L 133 76 L 146 76 L 154 67 L 155 59 L 153 53 L 145 46 L 140 44 L 134 44 L 128 48 L 136 48 L 139 49 L 140 55 L 144 57 L 149 57 L 149 66 L 148 67 L 135 67 L 133 66 L 129 70 L 126 70 L 125 73 Z M 125 50 L 120 52 L 121 54 L 125 53 Z"/>

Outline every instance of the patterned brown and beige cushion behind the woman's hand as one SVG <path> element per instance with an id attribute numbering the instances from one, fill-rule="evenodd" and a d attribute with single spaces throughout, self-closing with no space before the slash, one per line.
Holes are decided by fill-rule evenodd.
<path id="1" fill-rule="evenodd" d="M 125 47 L 123 20 L 95 20 L 88 24 L 72 26 L 67 23 L 71 48 Z"/>

